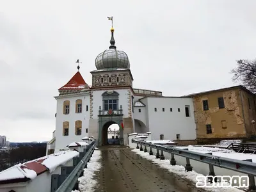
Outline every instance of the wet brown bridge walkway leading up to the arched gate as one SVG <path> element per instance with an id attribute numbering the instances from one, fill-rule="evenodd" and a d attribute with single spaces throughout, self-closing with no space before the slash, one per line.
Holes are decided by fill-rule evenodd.
<path id="1" fill-rule="evenodd" d="M 102 168 L 95 179 L 100 192 L 198 192 L 188 180 L 160 168 L 156 164 L 131 152 L 130 148 L 104 146 Z"/>

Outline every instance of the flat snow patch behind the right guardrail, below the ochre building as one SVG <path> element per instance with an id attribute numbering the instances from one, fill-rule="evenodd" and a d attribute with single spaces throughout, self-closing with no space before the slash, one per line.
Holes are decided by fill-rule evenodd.
<path id="1" fill-rule="evenodd" d="M 177 148 L 188 148 L 188 150 L 194 151 L 194 152 L 200 152 L 202 154 L 205 153 L 212 153 L 212 156 L 218 156 L 218 157 L 227 157 L 231 159 L 239 159 L 239 160 L 245 160 L 245 159 L 252 159 L 253 163 L 256 163 L 256 154 L 241 154 L 234 152 L 233 150 L 218 148 L 218 147 L 198 147 L 198 146 L 192 146 L 189 145 L 187 147 L 177 147 Z"/>

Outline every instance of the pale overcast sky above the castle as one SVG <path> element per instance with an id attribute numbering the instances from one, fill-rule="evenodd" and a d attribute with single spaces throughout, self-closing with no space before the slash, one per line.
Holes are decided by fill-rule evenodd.
<path id="1" fill-rule="evenodd" d="M 50 140 L 58 88 L 77 72 L 92 83 L 96 56 L 116 47 L 134 88 L 165 96 L 234 86 L 236 60 L 254 59 L 256 1 L 1 1 L 0 135 Z"/>

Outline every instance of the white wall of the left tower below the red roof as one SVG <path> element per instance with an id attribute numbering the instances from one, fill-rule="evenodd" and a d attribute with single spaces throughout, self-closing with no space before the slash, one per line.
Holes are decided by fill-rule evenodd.
<path id="1" fill-rule="evenodd" d="M 82 113 L 76 113 L 76 100 L 82 100 Z M 70 112 L 68 115 L 63 114 L 63 102 L 65 100 L 70 101 Z M 86 111 L 86 106 L 88 106 L 88 111 Z M 77 120 L 82 121 L 82 132 L 81 135 L 75 134 L 75 122 Z M 83 95 L 77 95 L 72 97 L 61 97 L 57 99 L 57 116 L 56 116 L 56 144 L 55 152 L 60 149 L 67 149 L 67 145 L 74 141 L 82 141 L 84 136 L 88 136 L 86 129 L 89 129 L 90 120 L 90 95 L 88 93 L 83 93 Z M 63 122 L 69 122 L 69 132 L 68 136 L 63 136 Z M 88 130 L 89 132 L 89 130 Z"/>

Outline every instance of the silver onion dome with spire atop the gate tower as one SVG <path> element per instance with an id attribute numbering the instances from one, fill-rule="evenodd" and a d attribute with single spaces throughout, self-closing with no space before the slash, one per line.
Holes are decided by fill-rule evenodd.
<path id="1" fill-rule="evenodd" d="M 111 40 L 109 49 L 101 52 L 95 59 L 97 70 L 116 70 L 117 68 L 130 68 L 130 62 L 124 51 L 116 50 L 114 29 L 111 28 Z"/>

